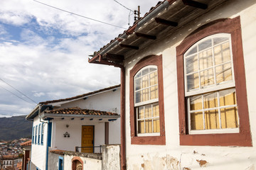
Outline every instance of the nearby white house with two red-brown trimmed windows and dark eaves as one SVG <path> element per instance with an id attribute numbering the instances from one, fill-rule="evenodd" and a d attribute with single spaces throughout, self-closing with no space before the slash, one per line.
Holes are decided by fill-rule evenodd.
<path id="1" fill-rule="evenodd" d="M 256 1 L 165 0 L 94 52 L 121 68 L 122 169 L 255 169 Z"/>

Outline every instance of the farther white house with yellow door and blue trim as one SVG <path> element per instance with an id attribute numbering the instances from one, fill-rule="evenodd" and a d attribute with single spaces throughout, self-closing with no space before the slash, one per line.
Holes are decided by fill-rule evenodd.
<path id="1" fill-rule="evenodd" d="M 102 145 L 120 143 L 119 101 L 117 85 L 38 103 L 26 116 L 33 120 L 28 169 L 68 170 L 85 162 L 89 169 L 95 162 L 101 168 Z"/>

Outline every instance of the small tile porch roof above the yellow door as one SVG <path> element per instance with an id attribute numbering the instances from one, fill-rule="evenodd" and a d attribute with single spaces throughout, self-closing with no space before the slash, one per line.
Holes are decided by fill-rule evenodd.
<path id="1" fill-rule="evenodd" d="M 52 111 L 46 111 L 50 114 L 67 114 L 67 115 L 118 115 L 117 113 L 111 113 L 106 111 L 95 111 L 82 108 L 58 108 Z"/>

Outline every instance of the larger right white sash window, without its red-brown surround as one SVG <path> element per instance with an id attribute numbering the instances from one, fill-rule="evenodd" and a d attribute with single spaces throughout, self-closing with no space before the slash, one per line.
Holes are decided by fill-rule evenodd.
<path id="1" fill-rule="evenodd" d="M 210 35 L 183 55 L 189 134 L 239 132 L 231 43 Z"/>

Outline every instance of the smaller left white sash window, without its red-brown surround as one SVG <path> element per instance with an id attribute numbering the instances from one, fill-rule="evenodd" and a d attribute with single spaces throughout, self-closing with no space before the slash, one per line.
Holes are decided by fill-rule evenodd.
<path id="1" fill-rule="evenodd" d="M 134 76 L 137 135 L 160 135 L 157 67 L 143 67 Z"/>

